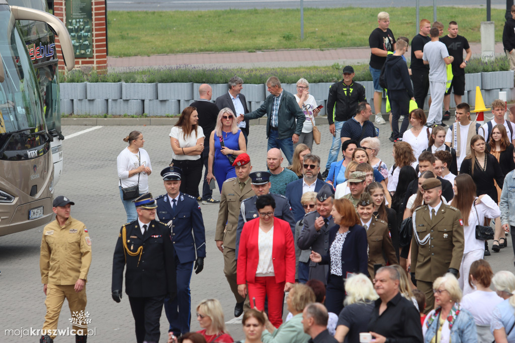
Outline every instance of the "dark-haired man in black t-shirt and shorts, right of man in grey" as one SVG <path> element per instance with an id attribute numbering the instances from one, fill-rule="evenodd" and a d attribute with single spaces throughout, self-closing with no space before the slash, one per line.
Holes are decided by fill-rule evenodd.
<path id="1" fill-rule="evenodd" d="M 445 108 L 443 120 L 449 120 L 451 116 L 449 112 L 451 90 L 454 93 L 454 102 L 461 104 L 461 96 L 465 94 L 465 67 L 472 56 L 467 38 L 458 35 L 458 24 L 454 21 L 450 22 L 448 30 L 449 34 L 440 38 L 440 42 L 447 46 L 449 55 L 454 57 L 454 61 L 451 63 L 453 74 L 451 87 L 449 87 L 449 90 L 445 92 L 443 97 L 443 107 Z M 463 59 L 463 50 L 467 52 L 465 60 Z"/>

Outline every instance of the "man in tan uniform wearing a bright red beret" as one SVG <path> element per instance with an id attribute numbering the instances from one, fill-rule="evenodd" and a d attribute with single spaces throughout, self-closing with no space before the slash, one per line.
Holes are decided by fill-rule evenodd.
<path id="1" fill-rule="evenodd" d="M 242 153 L 234 160 L 233 166 L 237 177 L 226 180 L 222 185 L 215 242 L 218 249 L 224 253 L 224 273 L 236 298 L 234 316 L 239 317 L 243 313 L 245 298 L 238 294 L 236 283 L 236 229 L 242 200 L 253 196 L 254 191 L 249 178 L 252 170 L 250 157 Z"/>

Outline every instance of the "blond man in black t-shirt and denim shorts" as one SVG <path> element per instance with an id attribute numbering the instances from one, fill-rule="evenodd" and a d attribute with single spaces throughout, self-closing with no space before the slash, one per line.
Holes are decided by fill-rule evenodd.
<path id="1" fill-rule="evenodd" d="M 368 45 L 370 46 L 370 63 L 369 70 L 372 74 L 374 81 L 374 112 L 375 123 L 385 124 L 385 120 L 381 116 L 381 105 L 383 88 L 379 85 L 379 76 L 383 64 L 385 64 L 388 52 L 395 51 L 395 37 L 393 32 L 388 28 L 390 26 L 390 15 L 386 12 L 377 14 L 377 22 L 379 25 L 375 28 L 368 37 Z"/>

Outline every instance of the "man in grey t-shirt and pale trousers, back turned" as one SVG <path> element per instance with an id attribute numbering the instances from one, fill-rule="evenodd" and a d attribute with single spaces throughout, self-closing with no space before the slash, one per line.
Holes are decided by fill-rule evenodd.
<path id="1" fill-rule="evenodd" d="M 447 83 L 447 64 L 454 61 L 454 57 L 449 56 L 445 44 L 439 41 L 438 28 L 433 27 L 430 31 L 431 42 L 424 45 L 422 59 L 424 64 L 429 64 L 429 89 L 431 93 L 431 106 L 427 116 L 427 126 L 442 124 L 442 104 Z"/>

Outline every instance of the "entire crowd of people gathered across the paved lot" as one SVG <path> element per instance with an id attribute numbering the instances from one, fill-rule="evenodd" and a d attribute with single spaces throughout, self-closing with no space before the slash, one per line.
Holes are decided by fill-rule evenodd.
<path id="1" fill-rule="evenodd" d="M 512 13 L 515 18 L 515 7 Z M 216 299 L 198 304 L 202 330 L 190 332 L 190 280 L 206 256 L 199 202 L 219 206 L 215 244 L 247 343 L 515 342 L 515 275 L 494 275 L 484 260 L 488 240 L 499 252 L 508 246 L 505 233 L 515 229 L 515 124 L 504 119 L 501 100 L 492 102 L 494 118 L 483 125 L 461 102 L 471 54 L 456 22 L 439 39 L 443 25 L 422 20 L 408 68 L 403 55 L 409 40 L 396 41 L 388 13 L 377 19 L 369 38 L 374 122 L 363 85 L 353 80 L 352 66 L 344 67 L 342 81 L 329 89 L 333 137 L 323 173 L 313 153 L 320 106 L 303 78 L 291 94 L 271 76 L 270 95 L 252 112 L 241 78 L 231 78 L 214 104 L 211 87 L 200 85 L 199 100 L 170 130 L 172 159 L 160 173 L 164 195 L 148 193 L 152 165 L 143 133 L 124 139 L 128 146 L 117 157 L 117 174 L 127 224 L 114 250 L 112 298 L 122 301 L 125 269 L 138 343 L 159 341 L 163 306 L 168 342 L 233 341 Z M 386 124 L 380 112 L 384 89 L 392 112 L 391 166 L 381 159 L 374 126 Z M 446 128 L 451 90 L 456 122 Z M 256 171 L 247 153 L 249 120 L 264 115 L 268 170 Z M 217 185 L 220 200 L 213 198 Z M 47 295 L 45 329 L 57 327 L 62 299 L 72 289 L 83 297 L 70 307 L 85 307 L 91 239 L 70 217 L 73 204 L 56 198 L 56 221 L 43 233 L 45 294 L 58 288 L 48 283 L 61 280 L 57 247 L 75 244 L 67 248 L 73 252 L 74 271 L 67 275 L 72 288 Z M 285 298 L 289 314 L 283 322 Z M 45 335 L 41 342 L 53 338 Z"/>

